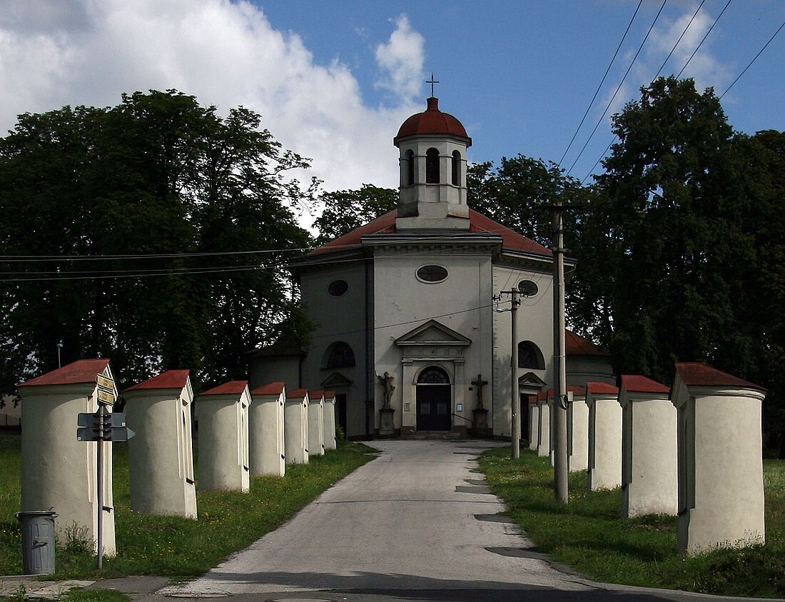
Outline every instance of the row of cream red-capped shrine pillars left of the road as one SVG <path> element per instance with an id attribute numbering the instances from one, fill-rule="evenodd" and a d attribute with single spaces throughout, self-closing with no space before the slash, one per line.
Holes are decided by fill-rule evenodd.
<path id="1" fill-rule="evenodd" d="M 97 540 L 97 442 L 76 439 L 79 413 L 98 409 L 97 376 L 113 380 L 107 359 L 79 360 L 20 384 L 21 510 L 53 508 L 63 533 L 74 525 Z M 107 382 L 103 381 L 104 384 Z M 117 391 L 113 391 L 116 397 Z M 194 395 L 188 370 L 169 370 L 123 391 L 131 508 L 196 519 L 192 444 Z M 249 391 L 232 380 L 196 398 L 200 491 L 250 487 L 250 475 L 279 475 L 286 464 L 336 448 L 333 391 Z M 115 553 L 111 442 L 103 443 L 104 554 Z"/>

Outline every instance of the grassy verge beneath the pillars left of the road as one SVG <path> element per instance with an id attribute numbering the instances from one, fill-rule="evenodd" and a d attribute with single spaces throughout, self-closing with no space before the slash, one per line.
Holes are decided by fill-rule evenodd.
<path id="1" fill-rule="evenodd" d="M 158 574 L 173 578 L 199 575 L 279 527 L 322 491 L 372 459 L 371 448 L 340 442 L 338 450 L 313 457 L 309 464 L 287 466 L 287 475 L 251 477 L 250 492 L 199 492 L 199 520 L 147 516 L 130 510 L 128 453 L 115 444 L 115 538 L 118 554 L 104 559 L 80 542 L 58 541 L 53 578 L 112 578 Z M 0 433 L 0 574 L 21 574 L 19 435 Z"/>

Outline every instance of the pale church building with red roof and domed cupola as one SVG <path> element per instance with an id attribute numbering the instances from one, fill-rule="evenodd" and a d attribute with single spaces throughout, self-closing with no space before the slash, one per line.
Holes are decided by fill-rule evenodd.
<path id="1" fill-rule="evenodd" d="M 397 209 L 290 266 L 316 329 L 305 350 L 279 341 L 255 352 L 250 384 L 335 391 L 338 422 L 352 438 L 509 437 L 513 345 L 521 382 L 553 386 L 552 253 L 469 209 L 472 139 L 437 98 L 393 144 Z"/>

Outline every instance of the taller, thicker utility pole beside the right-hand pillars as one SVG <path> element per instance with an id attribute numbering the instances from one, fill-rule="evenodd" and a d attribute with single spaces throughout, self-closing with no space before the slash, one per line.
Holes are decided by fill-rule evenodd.
<path id="1" fill-rule="evenodd" d="M 564 228 L 561 203 L 553 214 L 553 488 L 568 502 L 567 369 L 564 358 Z"/>

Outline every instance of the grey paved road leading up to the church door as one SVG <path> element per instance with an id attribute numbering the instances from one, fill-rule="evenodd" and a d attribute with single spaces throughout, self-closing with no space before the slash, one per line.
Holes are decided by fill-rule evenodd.
<path id="1" fill-rule="evenodd" d="M 289 523 L 159 596 L 239 600 L 686 600 L 599 585 L 527 552 L 476 473 L 493 442 L 376 441 L 379 457 Z M 709 596 L 703 596 L 709 597 Z"/>

